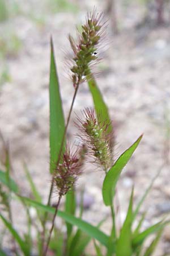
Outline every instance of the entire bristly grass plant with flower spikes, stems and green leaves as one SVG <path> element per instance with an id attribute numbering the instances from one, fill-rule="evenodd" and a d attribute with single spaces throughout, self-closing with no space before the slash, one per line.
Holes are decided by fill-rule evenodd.
<path id="1" fill-rule="evenodd" d="M 49 145 L 50 159 L 49 171 L 52 176 L 48 202 L 43 203 L 36 183 L 29 173 L 29 167 L 25 164 L 23 169 L 25 177 L 30 185 L 31 197 L 24 197 L 18 183 L 12 179 L 12 165 L 8 144 L 1 135 L 5 161 L 0 170 L 0 197 L 1 197 L 1 221 L 11 236 L 12 255 L 37 256 L 57 255 L 57 256 L 83 256 L 92 255 L 86 251 L 90 242 L 94 243 L 95 255 L 97 256 L 146 256 L 152 255 L 158 241 L 160 240 L 164 226 L 169 224 L 169 220 L 160 220 L 154 225 L 143 229 L 145 214 L 137 218 L 143 201 L 145 201 L 154 180 L 155 175 L 148 189 L 137 205 L 134 205 L 134 188 L 131 188 L 129 207 L 121 229 L 117 224 L 117 212 L 114 209 L 114 199 L 117 191 L 117 182 L 120 179 L 123 168 L 128 164 L 131 156 L 141 142 L 142 136 L 135 139 L 129 148 L 115 161 L 114 158 L 114 127 L 109 115 L 108 106 L 103 100 L 103 95 L 95 80 L 93 66 L 98 61 L 97 52 L 101 40 L 103 40 L 105 22 L 103 14 L 97 13 L 86 16 L 86 23 L 82 25 L 82 30 L 78 32 L 78 38 L 74 39 L 69 35 L 73 56 L 70 61 L 70 77 L 73 86 L 74 96 L 70 106 L 69 115 L 65 119 L 63 114 L 62 97 L 58 81 L 57 66 L 54 57 L 53 39 L 50 40 L 50 79 L 49 79 Z M 93 98 L 94 106 L 82 110 L 83 115 L 78 115 L 76 126 L 80 138 L 80 144 L 71 146 L 67 141 L 67 131 L 71 113 L 78 94 L 79 86 L 87 82 L 89 92 Z M 81 204 L 80 214 L 76 214 L 76 182 L 80 175 L 83 175 L 84 162 L 93 159 L 97 164 L 97 172 L 104 170 L 103 187 L 101 196 L 103 197 L 103 207 L 107 207 L 111 212 L 111 230 L 109 234 L 101 231 L 103 220 L 94 226 L 82 218 L 83 204 Z M 88 182 L 88 181 L 87 181 Z M 55 193 L 57 191 L 57 193 Z M 56 205 L 51 205 L 51 198 L 55 196 Z M 12 213 L 11 201 L 17 200 L 22 204 L 27 216 L 27 228 L 23 227 L 20 234 L 15 228 L 15 216 Z M 65 208 L 61 210 L 61 201 L 65 200 Z M 122 204 L 123 202 L 120 202 Z M 36 217 L 32 217 L 31 209 L 35 208 Z M 62 218 L 66 231 L 63 227 L 56 225 L 57 219 Z M 104 220 L 107 221 L 107 220 Z M 46 225 L 46 223 L 50 223 Z M 135 224 L 135 226 L 134 226 Z M 32 237 L 32 230 L 36 232 L 36 238 Z M 154 239 L 150 245 L 144 247 L 146 239 L 154 234 Z M 1 241 L 3 232 L 1 233 Z M 0 254 L 7 256 L 7 250 L 1 242 Z"/>

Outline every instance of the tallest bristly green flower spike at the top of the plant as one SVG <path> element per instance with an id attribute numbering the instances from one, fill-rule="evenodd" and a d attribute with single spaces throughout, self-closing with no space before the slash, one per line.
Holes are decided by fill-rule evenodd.
<path id="1" fill-rule="evenodd" d="M 102 20 L 103 13 L 96 13 L 94 10 L 92 14 L 87 14 L 86 24 L 82 25 L 82 32 L 78 31 L 77 42 L 69 35 L 74 53 L 73 66 L 70 68 L 71 79 L 75 88 L 90 76 L 90 66 L 97 61 L 97 49 L 105 28 Z"/>

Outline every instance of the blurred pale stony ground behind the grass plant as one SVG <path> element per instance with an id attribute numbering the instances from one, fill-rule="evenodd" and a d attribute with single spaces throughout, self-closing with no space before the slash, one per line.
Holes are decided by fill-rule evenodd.
<path id="1" fill-rule="evenodd" d="M 23 195 L 29 196 L 30 192 L 23 172 L 25 161 L 46 202 L 50 186 L 49 38 L 53 35 L 67 117 L 74 93 L 65 68 L 67 35 L 76 35 L 75 25 L 80 27 L 94 6 L 108 19 L 106 46 L 99 52 L 103 60 L 97 66 L 97 81 L 114 123 L 115 159 L 144 133 L 118 185 L 120 219 L 125 217 L 131 186 L 135 185 L 138 201 L 162 168 L 143 207 L 148 209 L 147 226 L 170 212 L 170 1 L 0 0 L 0 129 L 10 143 L 13 175 Z M 75 113 L 79 114 L 84 106 L 92 106 L 85 83 L 80 86 Z M 73 141 L 74 116 L 68 135 Z M 94 223 L 109 214 L 109 209 L 101 208 L 103 177 L 95 167 L 87 166 L 78 183 L 78 190 L 83 186 L 86 191 L 84 218 Z M 17 214 L 15 203 L 14 210 Z M 21 222 L 22 218 L 20 229 Z M 105 230 L 108 227 L 109 222 Z M 170 255 L 169 228 L 165 229 L 155 255 L 165 254 Z"/>

